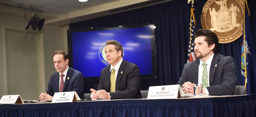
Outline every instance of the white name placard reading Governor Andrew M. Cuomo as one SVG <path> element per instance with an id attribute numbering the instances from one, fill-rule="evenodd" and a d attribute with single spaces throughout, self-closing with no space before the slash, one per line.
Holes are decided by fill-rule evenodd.
<path id="1" fill-rule="evenodd" d="M 81 100 L 76 91 L 54 93 L 51 103 L 77 102 Z"/>

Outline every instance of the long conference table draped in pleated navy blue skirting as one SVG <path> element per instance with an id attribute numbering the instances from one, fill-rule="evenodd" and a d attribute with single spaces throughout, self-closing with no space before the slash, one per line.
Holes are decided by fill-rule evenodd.
<path id="1" fill-rule="evenodd" d="M 178 99 L 123 99 L 66 103 L 5 104 L 0 105 L 0 116 L 255 117 L 256 99 L 255 95 L 239 95 Z"/>

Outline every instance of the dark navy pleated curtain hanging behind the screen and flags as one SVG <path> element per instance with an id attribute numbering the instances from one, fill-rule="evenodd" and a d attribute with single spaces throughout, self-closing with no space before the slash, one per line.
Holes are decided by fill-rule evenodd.
<path id="1" fill-rule="evenodd" d="M 247 0 L 251 14 L 256 12 L 255 0 Z M 191 3 L 188 0 L 175 0 L 163 4 L 144 7 L 141 9 L 122 12 L 114 15 L 108 15 L 91 20 L 85 20 L 69 24 L 70 29 L 84 29 L 90 27 L 111 27 L 138 25 L 154 23 L 156 25 L 155 36 L 157 38 L 157 67 L 158 78 L 142 79 L 141 90 L 148 90 L 149 86 L 174 85 L 181 76 L 184 64 L 187 63 L 188 41 L 189 41 L 189 23 Z M 201 12 L 207 0 L 197 0 L 194 3 L 194 14 L 196 28 L 202 29 Z M 250 23 L 256 45 L 256 15 L 251 15 Z M 218 53 L 224 56 L 232 56 L 235 59 L 237 69 L 237 85 L 244 85 L 241 80 L 241 44 L 242 37 L 237 40 L 220 44 Z M 124 58 L 125 59 L 125 58 Z M 99 73 L 100 74 L 100 73 Z M 256 94 L 255 73 L 253 76 L 252 94 Z M 85 82 L 85 93 L 90 93 L 90 88 L 94 88 L 98 81 Z"/>

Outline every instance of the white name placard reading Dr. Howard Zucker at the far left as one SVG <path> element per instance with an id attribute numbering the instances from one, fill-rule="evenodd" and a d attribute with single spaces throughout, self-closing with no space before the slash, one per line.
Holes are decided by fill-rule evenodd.
<path id="1" fill-rule="evenodd" d="M 24 104 L 24 102 L 20 95 L 4 95 L 0 100 L 0 104 Z"/>

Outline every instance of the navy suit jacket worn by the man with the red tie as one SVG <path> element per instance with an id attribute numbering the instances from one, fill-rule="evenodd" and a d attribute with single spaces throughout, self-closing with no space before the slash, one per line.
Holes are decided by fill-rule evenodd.
<path id="1" fill-rule="evenodd" d="M 59 92 L 59 72 L 55 72 L 51 75 L 51 79 L 48 83 L 47 94 L 53 96 L 55 92 Z M 68 79 L 69 77 L 69 79 Z M 67 76 L 65 79 L 63 92 L 76 91 L 80 99 L 84 99 L 84 83 L 83 74 L 71 67 L 68 68 Z"/>

